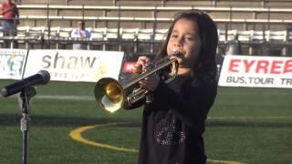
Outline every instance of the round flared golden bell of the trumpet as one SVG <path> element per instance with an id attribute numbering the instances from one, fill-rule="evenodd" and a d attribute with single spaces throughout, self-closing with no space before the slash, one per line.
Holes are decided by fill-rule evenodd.
<path id="1" fill-rule="evenodd" d="M 124 90 L 120 83 L 110 77 L 101 78 L 96 84 L 94 92 L 100 108 L 111 113 L 120 109 L 125 101 Z"/>

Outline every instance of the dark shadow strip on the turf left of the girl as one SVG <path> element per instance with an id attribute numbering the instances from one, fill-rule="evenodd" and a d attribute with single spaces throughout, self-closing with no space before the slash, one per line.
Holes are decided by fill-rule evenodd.
<path id="1" fill-rule="evenodd" d="M 0 114 L 0 127 L 17 126 L 21 118 L 22 116 L 13 114 Z M 30 126 L 34 127 L 77 127 L 115 122 L 119 123 L 119 127 L 140 127 L 139 120 L 129 120 L 126 118 L 80 118 L 35 115 L 30 117 L 30 119 Z"/>

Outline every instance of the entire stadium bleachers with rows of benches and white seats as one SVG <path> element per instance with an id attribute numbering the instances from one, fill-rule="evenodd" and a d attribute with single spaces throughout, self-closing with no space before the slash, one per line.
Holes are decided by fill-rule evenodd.
<path id="1" fill-rule="evenodd" d="M 105 50 L 109 45 L 118 44 L 113 50 L 120 50 L 125 42 L 153 46 L 162 42 L 174 13 L 196 8 L 214 18 L 221 48 L 218 52 L 225 54 L 228 46 L 237 43 L 236 46 L 242 46 L 238 54 L 269 55 L 258 54 L 253 48 L 273 45 L 284 49 L 279 56 L 292 56 L 292 0 L 183 0 L 177 3 L 169 0 L 104 0 L 99 4 L 93 0 L 47 0 L 46 3 L 19 0 L 21 24 L 17 36 L 1 38 L 19 40 L 19 46 L 26 48 L 61 48 L 59 45 L 70 48 L 76 40 L 70 37 L 70 31 L 75 22 L 84 20 L 92 36 L 81 41 L 89 42 L 89 49 Z M 143 44 L 135 44 L 135 49 L 139 49 L 136 47 L 139 45 Z"/>

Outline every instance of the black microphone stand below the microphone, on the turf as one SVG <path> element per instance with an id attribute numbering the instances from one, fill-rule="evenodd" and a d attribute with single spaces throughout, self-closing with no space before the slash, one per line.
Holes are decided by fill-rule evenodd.
<path id="1" fill-rule="evenodd" d="M 27 152 L 28 152 L 28 129 L 29 129 L 29 100 L 30 98 L 36 96 L 35 87 L 26 87 L 21 93 L 20 97 L 22 98 L 22 116 L 20 120 L 20 130 L 22 131 L 22 164 L 27 164 Z"/>

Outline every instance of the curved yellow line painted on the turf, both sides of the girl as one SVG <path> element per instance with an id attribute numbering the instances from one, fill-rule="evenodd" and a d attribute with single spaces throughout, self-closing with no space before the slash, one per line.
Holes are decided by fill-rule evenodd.
<path id="1" fill-rule="evenodd" d="M 117 150 L 117 151 L 124 151 L 124 152 L 135 152 L 137 153 L 138 150 L 137 149 L 127 149 L 127 148 L 122 148 L 122 147 L 115 147 L 115 146 L 111 146 L 108 144 L 103 144 L 103 143 L 99 143 L 99 142 L 95 142 L 95 141 L 91 141 L 87 138 L 83 138 L 82 137 L 82 133 L 91 129 L 91 128 L 103 128 L 103 127 L 110 127 L 110 126 L 115 126 L 115 125 L 123 125 L 123 124 L 129 124 L 130 122 L 123 122 L 123 123 L 108 123 L 108 124 L 100 124 L 100 125 L 91 125 L 91 126 L 84 126 L 84 127 L 79 127 L 76 128 L 74 130 L 72 130 L 69 133 L 69 136 L 71 138 L 73 138 L 74 140 L 87 144 L 87 145 L 91 145 L 91 146 L 95 146 L 95 147 L 100 147 L 100 148 L 104 148 L 104 149 L 113 149 L 113 150 Z M 229 161 L 229 160 L 214 160 L 214 159 L 207 159 L 208 162 L 212 162 L 212 163 L 224 163 L 224 164 L 244 164 L 238 161 Z"/>

